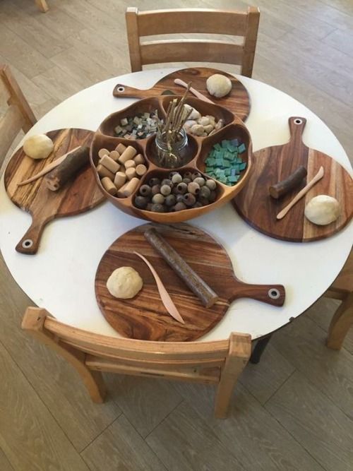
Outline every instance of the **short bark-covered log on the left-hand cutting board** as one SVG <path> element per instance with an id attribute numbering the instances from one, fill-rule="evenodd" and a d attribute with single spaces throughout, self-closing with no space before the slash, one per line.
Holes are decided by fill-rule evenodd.
<path id="1" fill-rule="evenodd" d="M 66 181 L 74 177 L 80 169 L 89 162 L 90 148 L 80 147 L 71 154 L 68 154 L 64 162 L 61 162 L 52 172 L 44 177 L 47 188 L 51 191 L 61 189 Z"/>

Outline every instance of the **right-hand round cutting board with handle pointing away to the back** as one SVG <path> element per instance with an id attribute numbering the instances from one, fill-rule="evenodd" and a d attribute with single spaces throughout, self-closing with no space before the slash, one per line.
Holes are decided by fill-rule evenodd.
<path id="1" fill-rule="evenodd" d="M 311 242 L 330 237 L 345 227 L 353 214 L 352 177 L 331 157 L 304 145 L 302 133 L 305 124 L 305 118 L 289 118 L 291 137 L 287 144 L 275 145 L 253 153 L 253 167 L 249 180 L 233 200 L 239 215 L 251 226 L 270 237 L 291 242 Z M 283 198 L 273 199 L 268 187 L 286 179 L 299 165 L 303 165 L 308 172 L 301 186 Z M 321 165 L 325 171 L 323 178 L 289 210 L 283 219 L 277 220 L 277 213 L 285 208 L 306 182 L 316 175 Z M 340 217 L 326 226 L 314 225 L 304 216 L 306 203 L 320 194 L 336 198 L 342 209 Z"/>

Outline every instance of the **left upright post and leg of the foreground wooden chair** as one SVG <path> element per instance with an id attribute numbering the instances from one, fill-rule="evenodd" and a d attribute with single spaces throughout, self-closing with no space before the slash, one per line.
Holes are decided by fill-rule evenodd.
<path id="1" fill-rule="evenodd" d="M 91 371 L 85 364 L 85 353 L 76 350 L 70 345 L 58 342 L 54 335 L 45 329 L 44 323 L 47 317 L 45 309 L 29 307 L 23 316 L 22 328 L 37 340 L 47 345 L 56 353 L 64 357 L 76 369 L 85 383 L 88 393 L 94 403 L 103 403 L 107 390 L 100 371 Z"/>

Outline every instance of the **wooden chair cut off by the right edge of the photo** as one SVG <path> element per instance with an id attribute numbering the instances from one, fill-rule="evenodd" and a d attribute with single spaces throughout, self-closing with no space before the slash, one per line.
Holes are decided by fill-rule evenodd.
<path id="1" fill-rule="evenodd" d="M 328 328 L 326 344 L 333 350 L 340 350 L 349 327 L 353 325 L 353 252 L 324 296 L 342 301 Z"/>

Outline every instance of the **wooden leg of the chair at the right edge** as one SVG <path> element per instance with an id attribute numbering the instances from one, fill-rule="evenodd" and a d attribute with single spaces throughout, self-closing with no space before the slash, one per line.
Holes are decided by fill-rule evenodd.
<path id="1" fill-rule="evenodd" d="M 332 348 L 333 350 L 340 350 L 349 327 L 352 325 L 353 292 L 347 295 L 333 315 L 330 327 L 328 328 L 328 339 L 326 341 L 328 348 Z"/>

